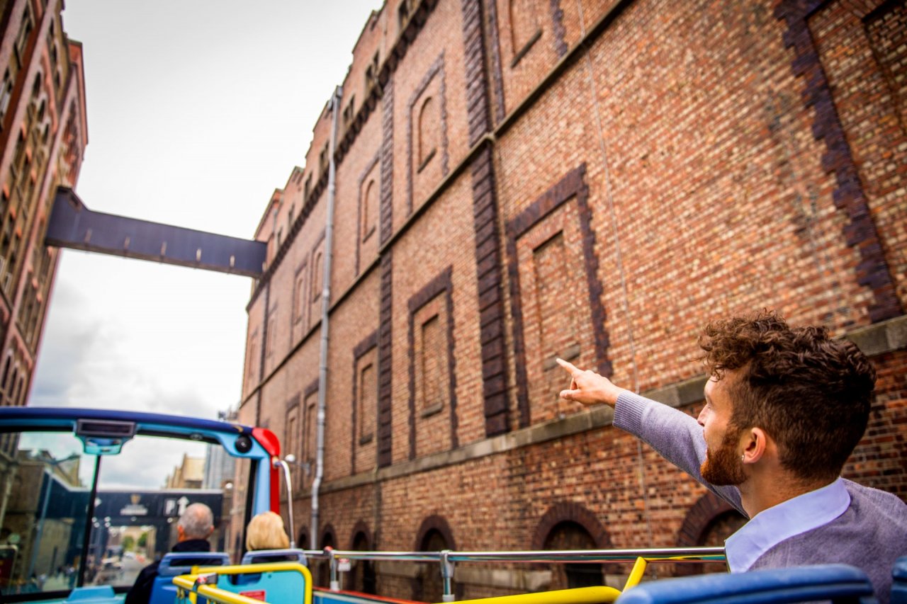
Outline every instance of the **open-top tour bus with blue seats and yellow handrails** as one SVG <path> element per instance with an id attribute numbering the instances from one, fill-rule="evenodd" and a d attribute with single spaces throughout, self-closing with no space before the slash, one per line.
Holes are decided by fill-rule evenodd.
<path id="1" fill-rule="evenodd" d="M 472 601 L 873 601 L 872 585 L 862 571 L 842 565 L 656 580 L 634 587 L 649 562 L 722 561 L 723 548 L 279 550 L 242 556 L 244 528 L 251 517 L 279 512 L 281 469 L 289 481 L 279 453 L 278 441 L 268 430 L 227 422 L 126 411 L 0 407 L 0 601 L 118 604 L 139 571 L 158 559 L 160 576 L 151 604 L 206 599 L 224 604 L 409 601 L 343 589 L 346 572 L 356 564 L 376 562 L 433 565 L 445 602 L 454 600 L 459 565 L 526 563 L 620 563 L 632 568 L 621 589 L 591 586 Z M 206 475 L 216 484 L 198 481 L 198 468 L 189 472 L 201 457 L 207 460 Z M 162 477 L 161 467 L 172 469 L 171 474 Z M 168 553 L 176 542 L 180 512 L 194 502 L 206 503 L 214 512 L 216 531 L 210 541 L 216 551 L 210 556 Z M 902 561 L 900 581 L 895 569 L 892 601 L 907 601 L 907 560 Z M 313 585 L 309 564 L 329 570 L 329 586 Z"/>

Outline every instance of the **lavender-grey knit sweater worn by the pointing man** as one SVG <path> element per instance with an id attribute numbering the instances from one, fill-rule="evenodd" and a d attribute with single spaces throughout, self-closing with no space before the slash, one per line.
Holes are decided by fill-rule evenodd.
<path id="1" fill-rule="evenodd" d="M 703 480 L 699 466 L 706 459 L 706 442 L 696 419 L 666 404 L 624 393 L 614 409 L 614 425 L 649 443 L 670 463 L 746 516 L 736 487 L 716 487 Z M 879 601 L 888 602 L 894 560 L 907 555 L 907 505 L 889 492 L 846 480 L 844 485 L 851 504 L 841 516 L 776 543 L 750 570 L 851 564 L 873 581 Z"/>

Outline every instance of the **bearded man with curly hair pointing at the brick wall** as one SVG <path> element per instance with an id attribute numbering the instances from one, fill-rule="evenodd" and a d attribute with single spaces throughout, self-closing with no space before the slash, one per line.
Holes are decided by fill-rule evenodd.
<path id="1" fill-rule="evenodd" d="M 709 379 L 697 419 L 558 359 L 571 375 L 561 397 L 614 407 L 614 425 L 750 519 L 727 539 L 731 572 L 842 562 L 887 601 L 907 505 L 840 475 L 869 419 L 869 359 L 771 312 L 710 323 L 699 346 Z"/>

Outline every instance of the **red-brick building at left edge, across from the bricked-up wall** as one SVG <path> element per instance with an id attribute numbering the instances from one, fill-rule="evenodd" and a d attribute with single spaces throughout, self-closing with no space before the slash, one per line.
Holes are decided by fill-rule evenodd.
<path id="1" fill-rule="evenodd" d="M 62 10 L 63 0 L 0 2 L 0 405 L 28 397 L 60 254 L 44 245 L 47 219 L 88 143 L 82 44 Z M 0 435 L 0 518 L 15 449 Z"/>

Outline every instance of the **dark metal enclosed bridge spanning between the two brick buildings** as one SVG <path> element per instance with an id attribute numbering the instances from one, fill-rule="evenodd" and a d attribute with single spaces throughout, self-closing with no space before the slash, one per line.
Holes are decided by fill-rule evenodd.
<path id="1" fill-rule="evenodd" d="M 267 253 L 262 241 L 93 212 L 65 187 L 56 191 L 44 243 L 253 278 Z"/>

